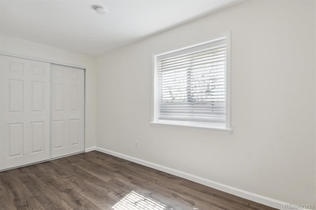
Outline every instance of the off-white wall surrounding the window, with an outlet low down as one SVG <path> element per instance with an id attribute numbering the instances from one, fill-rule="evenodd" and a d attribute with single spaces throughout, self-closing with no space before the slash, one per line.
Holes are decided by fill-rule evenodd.
<path id="1" fill-rule="evenodd" d="M 99 56 L 96 145 L 316 205 L 315 26 L 314 0 L 246 1 Z M 228 30 L 233 133 L 150 126 L 152 53 Z"/>

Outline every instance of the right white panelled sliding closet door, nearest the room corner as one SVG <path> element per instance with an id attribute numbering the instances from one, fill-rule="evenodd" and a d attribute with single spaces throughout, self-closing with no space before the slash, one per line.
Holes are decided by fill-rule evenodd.
<path id="1" fill-rule="evenodd" d="M 51 158 L 84 151 L 84 70 L 52 65 Z"/>

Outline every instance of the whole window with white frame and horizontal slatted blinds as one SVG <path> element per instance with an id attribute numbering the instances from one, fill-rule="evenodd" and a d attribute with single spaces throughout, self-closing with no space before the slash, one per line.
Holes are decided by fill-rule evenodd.
<path id="1" fill-rule="evenodd" d="M 229 33 L 154 53 L 152 123 L 230 129 Z"/>

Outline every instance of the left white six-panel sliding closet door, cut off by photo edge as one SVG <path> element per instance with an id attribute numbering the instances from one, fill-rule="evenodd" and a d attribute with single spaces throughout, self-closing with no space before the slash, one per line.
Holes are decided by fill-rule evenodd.
<path id="1" fill-rule="evenodd" d="M 49 159 L 49 69 L 0 55 L 0 170 Z"/>

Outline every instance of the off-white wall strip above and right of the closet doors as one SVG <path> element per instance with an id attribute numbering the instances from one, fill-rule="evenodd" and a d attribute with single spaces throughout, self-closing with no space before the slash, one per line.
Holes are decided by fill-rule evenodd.
<path id="1" fill-rule="evenodd" d="M 31 56 L 51 61 L 83 66 L 86 68 L 85 97 L 85 148 L 95 145 L 95 79 L 96 58 L 68 50 L 39 44 L 6 35 L 0 35 L 0 51 Z"/>

